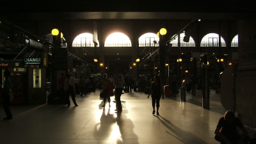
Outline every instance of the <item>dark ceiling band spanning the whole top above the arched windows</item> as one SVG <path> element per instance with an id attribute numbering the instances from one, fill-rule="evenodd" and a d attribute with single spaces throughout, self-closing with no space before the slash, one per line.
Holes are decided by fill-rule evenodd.
<path id="1" fill-rule="evenodd" d="M 0 19 L 246 19 L 256 1 L 248 0 L 8 0 Z"/>

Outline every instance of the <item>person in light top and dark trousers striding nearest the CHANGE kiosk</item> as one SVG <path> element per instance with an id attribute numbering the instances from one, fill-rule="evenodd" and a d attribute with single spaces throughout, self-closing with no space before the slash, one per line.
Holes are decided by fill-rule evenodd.
<path id="1" fill-rule="evenodd" d="M 70 78 L 70 74 L 67 74 L 66 77 L 67 77 L 67 79 L 65 80 L 65 83 L 64 83 L 64 90 L 66 93 L 67 104 L 68 104 L 68 106 L 70 106 L 69 95 L 71 95 L 72 101 L 74 102 L 75 106 L 78 106 L 76 104 L 76 98 L 75 98 L 76 90 L 75 90 L 74 79 Z"/>

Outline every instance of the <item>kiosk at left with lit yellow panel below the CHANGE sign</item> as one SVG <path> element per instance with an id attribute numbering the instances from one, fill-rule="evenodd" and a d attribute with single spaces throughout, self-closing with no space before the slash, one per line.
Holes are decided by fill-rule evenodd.
<path id="1" fill-rule="evenodd" d="M 9 70 L 11 73 L 14 99 L 10 104 L 46 103 L 45 68 L 40 68 L 42 58 L 30 58 L 26 62 L 25 59 L 0 60 L 1 85 L 5 80 L 4 71 Z"/>

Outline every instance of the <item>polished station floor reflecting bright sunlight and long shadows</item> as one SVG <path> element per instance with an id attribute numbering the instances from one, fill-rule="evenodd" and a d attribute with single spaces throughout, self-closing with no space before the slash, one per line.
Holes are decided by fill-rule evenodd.
<path id="1" fill-rule="evenodd" d="M 218 143 L 214 129 L 225 109 L 220 94 L 210 94 L 210 109 L 202 108 L 202 93 L 186 93 L 187 102 L 175 98 L 160 101 L 160 115 L 152 115 L 151 100 L 143 92 L 122 95 L 122 113 L 115 113 L 99 98 L 100 91 L 81 97 L 78 107 L 62 104 L 13 105 L 12 120 L 0 116 L 0 143 Z M 71 98 L 70 98 L 71 100 Z"/>

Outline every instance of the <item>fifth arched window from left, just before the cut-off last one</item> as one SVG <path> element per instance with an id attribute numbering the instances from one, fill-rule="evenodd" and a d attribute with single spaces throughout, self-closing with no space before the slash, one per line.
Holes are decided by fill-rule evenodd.
<path id="1" fill-rule="evenodd" d="M 202 38 L 200 47 L 218 47 L 219 35 L 216 33 L 209 33 Z M 221 37 L 221 47 L 226 47 L 225 40 Z"/>

